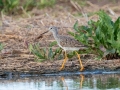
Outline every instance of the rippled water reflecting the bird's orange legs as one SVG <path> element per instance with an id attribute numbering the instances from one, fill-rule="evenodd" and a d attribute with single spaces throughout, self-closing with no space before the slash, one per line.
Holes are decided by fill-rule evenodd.
<path id="1" fill-rule="evenodd" d="M 0 90 L 120 90 L 120 73 L 12 76 L 0 78 Z"/>

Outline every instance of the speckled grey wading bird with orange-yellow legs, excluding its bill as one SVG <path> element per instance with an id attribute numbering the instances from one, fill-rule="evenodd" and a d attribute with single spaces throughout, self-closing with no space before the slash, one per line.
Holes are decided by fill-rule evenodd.
<path id="1" fill-rule="evenodd" d="M 55 40 L 57 41 L 57 44 L 59 45 L 59 47 L 61 47 L 65 51 L 65 59 L 62 63 L 60 70 L 64 68 L 65 63 L 68 60 L 67 53 L 66 53 L 66 51 L 68 50 L 68 51 L 75 51 L 76 55 L 78 56 L 79 62 L 80 62 L 80 67 L 81 67 L 80 71 L 83 71 L 84 67 L 80 59 L 80 54 L 77 53 L 77 50 L 81 48 L 82 44 L 70 36 L 59 35 L 58 27 L 51 26 L 49 27 L 49 31 L 53 33 L 53 36 Z"/>

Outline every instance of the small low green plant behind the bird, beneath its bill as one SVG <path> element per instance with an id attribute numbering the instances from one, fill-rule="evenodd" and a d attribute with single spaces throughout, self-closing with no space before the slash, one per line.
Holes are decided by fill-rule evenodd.
<path id="1" fill-rule="evenodd" d="M 57 48 L 53 50 L 53 46 L 56 45 L 56 42 L 52 42 L 48 48 L 40 48 L 39 44 L 29 45 L 29 50 L 32 52 L 36 57 L 37 61 L 44 61 L 44 60 L 54 60 L 54 59 L 61 59 L 62 58 L 62 49 Z"/>

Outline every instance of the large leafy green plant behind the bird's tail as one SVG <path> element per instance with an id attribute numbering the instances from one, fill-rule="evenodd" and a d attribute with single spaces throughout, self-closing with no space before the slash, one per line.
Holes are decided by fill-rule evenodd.
<path id="1" fill-rule="evenodd" d="M 114 22 L 102 10 L 95 14 L 99 20 L 90 20 L 87 26 L 78 26 L 76 22 L 74 29 L 77 33 L 70 34 L 87 45 L 89 53 L 97 54 L 100 58 L 109 54 L 120 55 L 120 17 Z"/>

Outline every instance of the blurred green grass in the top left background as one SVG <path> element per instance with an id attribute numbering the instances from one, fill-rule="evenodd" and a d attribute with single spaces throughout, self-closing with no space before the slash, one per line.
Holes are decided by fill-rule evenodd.
<path id="1" fill-rule="evenodd" d="M 6 14 L 19 14 L 21 7 L 27 12 L 35 7 L 52 7 L 55 3 L 56 0 L 0 0 L 0 11 Z"/>

